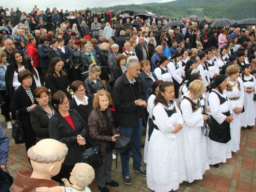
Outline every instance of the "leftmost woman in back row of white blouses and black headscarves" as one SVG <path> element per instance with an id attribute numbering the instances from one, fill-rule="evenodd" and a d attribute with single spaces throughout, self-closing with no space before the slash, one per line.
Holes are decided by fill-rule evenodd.
<path id="1" fill-rule="evenodd" d="M 157 68 L 155 69 L 156 77 L 163 81 L 173 81 L 172 75 L 170 75 L 167 65 L 169 63 L 168 57 L 161 56 L 157 61 Z"/>

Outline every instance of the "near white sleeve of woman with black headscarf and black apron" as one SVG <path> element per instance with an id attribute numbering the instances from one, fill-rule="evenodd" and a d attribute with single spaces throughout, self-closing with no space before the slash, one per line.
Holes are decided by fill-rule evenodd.
<path id="1" fill-rule="evenodd" d="M 226 116 L 220 112 L 220 99 L 218 95 L 214 92 L 211 92 L 208 97 L 210 114 L 218 123 L 223 123 L 226 119 Z"/>

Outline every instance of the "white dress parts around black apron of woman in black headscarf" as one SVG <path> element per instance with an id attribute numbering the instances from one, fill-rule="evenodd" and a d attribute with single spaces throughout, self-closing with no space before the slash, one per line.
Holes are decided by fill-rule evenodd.
<path id="1" fill-rule="evenodd" d="M 215 93 L 213 93 L 215 92 Z M 220 105 L 219 94 L 221 97 L 226 98 L 225 94 L 221 94 L 215 89 L 212 89 L 212 92 L 209 95 L 209 107 L 211 116 L 219 123 L 223 123 L 226 119 L 226 116 L 222 113 L 226 113 L 231 110 L 230 101 L 226 101 Z M 227 143 L 220 143 L 211 140 L 209 137 L 206 137 L 207 140 L 207 152 L 208 152 L 208 162 L 210 165 L 215 165 L 218 163 L 226 163 L 226 159 L 231 158 L 231 140 Z"/>

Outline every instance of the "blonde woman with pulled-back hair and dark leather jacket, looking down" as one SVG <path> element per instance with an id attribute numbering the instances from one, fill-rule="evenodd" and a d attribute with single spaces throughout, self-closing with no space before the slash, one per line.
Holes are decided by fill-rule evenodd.
<path id="1" fill-rule="evenodd" d="M 106 89 L 101 79 L 99 78 L 101 73 L 99 66 L 97 66 L 95 63 L 92 63 L 88 72 L 89 76 L 86 81 L 84 81 L 84 83 L 86 84 L 86 93 L 89 96 L 93 98 L 99 90 L 108 91 L 108 89 Z"/>

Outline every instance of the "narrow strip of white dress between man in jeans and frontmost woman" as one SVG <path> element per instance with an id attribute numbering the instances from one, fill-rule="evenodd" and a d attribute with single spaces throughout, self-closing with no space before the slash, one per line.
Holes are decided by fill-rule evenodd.
<path id="1" fill-rule="evenodd" d="M 148 118 L 152 119 L 152 110 L 154 107 L 154 100 L 155 100 L 156 96 L 155 95 L 151 95 L 150 98 L 148 98 L 147 100 L 147 112 L 148 114 L 150 114 L 148 116 Z M 147 121 L 147 125 L 146 125 L 146 139 L 145 139 L 145 146 L 144 146 L 144 163 L 147 163 L 147 153 L 148 153 L 148 145 L 149 145 L 149 141 L 148 141 L 148 121 Z"/>

